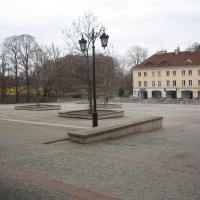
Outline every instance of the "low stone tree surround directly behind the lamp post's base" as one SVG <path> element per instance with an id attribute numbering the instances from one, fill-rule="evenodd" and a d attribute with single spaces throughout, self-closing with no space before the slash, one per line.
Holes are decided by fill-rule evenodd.
<path id="1" fill-rule="evenodd" d="M 116 111 L 116 110 L 97 110 L 97 113 L 98 113 L 98 119 L 109 119 L 109 118 L 124 116 L 124 111 Z M 89 113 L 89 110 L 59 112 L 58 116 L 67 118 L 78 118 L 78 119 L 92 119 L 92 114 Z"/>

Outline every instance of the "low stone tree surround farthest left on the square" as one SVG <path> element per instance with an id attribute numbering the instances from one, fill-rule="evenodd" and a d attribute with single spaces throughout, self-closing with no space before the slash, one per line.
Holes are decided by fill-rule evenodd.
<path id="1" fill-rule="evenodd" d="M 44 110 L 60 110 L 60 105 L 45 105 L 40 104 L 37 105 L 23 105 L 23 106 L 15 106 L 15 110 L 30 110 L 30 111 L 44 111 Z"/>

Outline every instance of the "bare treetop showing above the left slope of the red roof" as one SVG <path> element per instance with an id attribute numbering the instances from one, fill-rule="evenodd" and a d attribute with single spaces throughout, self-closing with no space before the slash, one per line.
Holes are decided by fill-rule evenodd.
<path id="1" fill-rule="evenodd" d="M 139 65 L 142 61 L 147 58 L 148 49 L 142 48 L 140 46 L 131 46 L 126 55 L 127 55 L 127 63 L 130 67 L 135 67 Z"/>

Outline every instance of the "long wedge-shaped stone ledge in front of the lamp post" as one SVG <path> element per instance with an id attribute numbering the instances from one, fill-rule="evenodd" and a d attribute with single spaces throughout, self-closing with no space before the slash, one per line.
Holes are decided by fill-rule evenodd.
<path id="1" fill-rule="evenodd" d="M 162 128 L 163 117 L 148 117 L 131 122 L 107 126 L 94 127 L 80 131 L 69 132 L 69 140 L 81 144 L 115 139 L 133 133 L 144 133 Z"/>

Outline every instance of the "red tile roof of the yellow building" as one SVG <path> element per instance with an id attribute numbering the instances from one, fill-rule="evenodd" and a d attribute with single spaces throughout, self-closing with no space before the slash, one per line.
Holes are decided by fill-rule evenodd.
<path id="1" fill-rule="evenodd" d="M 188 62 L 187 62 L 188 61 Z M 163 63 L 163 64 L 161 64 Z M 167 64 L 168 63 L 168 64 Z M 151 64 L 151 65 L 150 65 Z M 200 51 L 189 52 L 183 51 L 164 54 L 154 54 L 147 60 L 143 61 L 136 67 L 161 67 L 161 66 L 178 66 L 178 65 L 200 65 Z"/>

